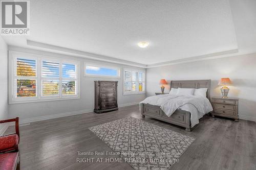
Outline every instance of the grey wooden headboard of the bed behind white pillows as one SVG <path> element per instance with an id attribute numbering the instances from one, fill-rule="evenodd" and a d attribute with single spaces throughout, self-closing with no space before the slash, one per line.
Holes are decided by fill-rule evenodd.
<path id="1" fill-rule="evenodd" d="M 208 88 L 206 98 L 210 101 L 210 80 L 173 80 L 170 88 Z"/>

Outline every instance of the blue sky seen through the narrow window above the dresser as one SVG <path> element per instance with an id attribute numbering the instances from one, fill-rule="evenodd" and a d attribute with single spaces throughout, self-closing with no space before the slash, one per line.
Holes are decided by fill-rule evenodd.
<path id="1" fill-rule="evenodd" d="M 117 77 L 118 71 L 115 68 L 86 66 L 86 74 Z"/>

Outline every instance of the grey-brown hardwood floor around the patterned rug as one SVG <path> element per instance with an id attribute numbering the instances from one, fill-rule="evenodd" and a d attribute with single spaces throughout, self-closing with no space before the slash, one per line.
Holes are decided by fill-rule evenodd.
<path id="1" fill-rule="evenodd" d="M 137 105 L 103 114 L 86 113 L 21 126 L 20 169 L 133 169 L 127 163 L 76 162 L 77 158 L 86 157 L 78 156 L 78 151 L 112 151 L 89 127 L 127 116 L 196 138 L 180 156 L 180 163 L 170 169 L 256 169 L 255 122 L 240 120 L 237 123 L 205 116 L 193 131 L 187 132 L 160 120 L 142 118 Z"/>

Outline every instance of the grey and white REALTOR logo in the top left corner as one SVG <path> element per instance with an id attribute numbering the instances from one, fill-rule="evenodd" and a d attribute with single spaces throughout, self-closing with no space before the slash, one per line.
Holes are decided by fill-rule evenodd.
<path id="1" fill-rule="evenodd" d="M 29 1 L 1 1 L 1 35 L 29 35 Z"/>

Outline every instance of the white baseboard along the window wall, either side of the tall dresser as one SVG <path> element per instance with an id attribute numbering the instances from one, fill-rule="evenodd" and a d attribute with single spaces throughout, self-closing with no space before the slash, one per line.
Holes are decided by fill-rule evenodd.
<path id="1" fill-rule="evenodd" d="M 138 104 L 139 104 L 139 102 L 125 103 L 125 104 L 118 105 L 118 107 L 132 106 L 132 105 L 138 105 Z M 20 123 L 20 125 L 29 124 L 29 123 L 38 122 L 41 120 L 48 120 L 48 119 L 53 119 L 53 118 L 66 117 L 66 116 L 72 116 L 72 115 L 90 113 L 90 112 L 93 112 L 93 109 L 77 110 L 77 111 L 58 113 L 58 114 L 52 114 L 52 115 L 47 115 L 47 116 L 25 118 L 25 119 L 20 119 L 19 123 Z"/>

